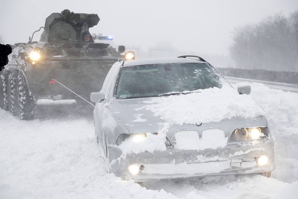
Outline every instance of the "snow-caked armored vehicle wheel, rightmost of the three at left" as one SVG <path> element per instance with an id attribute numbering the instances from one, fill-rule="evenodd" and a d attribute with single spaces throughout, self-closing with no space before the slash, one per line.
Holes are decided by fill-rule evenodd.
<path id="1" fill-rule="evenodd" d="M 17 88 L 17 101 L 18 109 L 16 110 L 18 117 L 21 120 L 34 119 L 36 110 L 36 98 L 30 95 L 26 78 L 23 74 L 18 75 L 18 88 Z"/>

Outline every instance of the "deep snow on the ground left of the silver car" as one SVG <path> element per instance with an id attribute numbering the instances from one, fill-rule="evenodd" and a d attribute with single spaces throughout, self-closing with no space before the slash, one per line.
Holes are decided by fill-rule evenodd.
<path id="1" fill-rule="evenodd" d="M 0 198 L 176 198 L 107 174 L 92 120 L 0 121 Z"/>

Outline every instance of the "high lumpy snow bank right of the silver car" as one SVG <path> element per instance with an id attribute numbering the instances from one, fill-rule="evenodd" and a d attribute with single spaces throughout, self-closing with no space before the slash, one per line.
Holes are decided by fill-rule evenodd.
<path id="1" fill-rule="evenodd" d="M 276 169 L 272 177 L 289 183 L 297 181 L 298 93 L 270 89 L 259 83 L 250 85 L 250 96 L 264 110 L 275 139 Z"/>

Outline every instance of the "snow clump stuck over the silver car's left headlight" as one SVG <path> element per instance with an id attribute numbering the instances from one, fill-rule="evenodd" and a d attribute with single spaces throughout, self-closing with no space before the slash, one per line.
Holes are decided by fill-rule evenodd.
<path id="1" fill-rule="evenodd" d="M 126 154 L 140 153 L 140 152 L 153 152 L 153 151 L 165 151 L 166 145 L 166 133 L 169 131 L 170 124 L 164 123 L 163 128 L 158 131 L 158 134 L 146 133 L 147 137 L 142 141 L 134 141 L 133 139 L 126 139 L 119 145 L 119 149 L 122 150 L 122 156 Z"/>

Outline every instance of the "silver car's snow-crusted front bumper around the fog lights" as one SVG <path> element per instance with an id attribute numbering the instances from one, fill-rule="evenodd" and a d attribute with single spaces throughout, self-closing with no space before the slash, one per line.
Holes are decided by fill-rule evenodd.
<path id="1" fill-rule="evenodd" d="M 134 179 L 136 182 L 194 176 L 262 173 L 275 169 L 273 139 L 245 144 L 228 144 L 224 148 L 203 151 L 167 148 L 166 151 L 153 153 L 131 153 L 125 158 L 120 158 L 122 155 L 120 149 L 109 146 L 109 154 L 111 160 L 109 172 L 115 173 L 124 180 Z M 268 157 L 268 163 L 258 166 L 256 160 L 263 155 Z M 132 164 L 142 165 L 142 170 L 136 175 L 129 172 L 128 167 Z"/>

